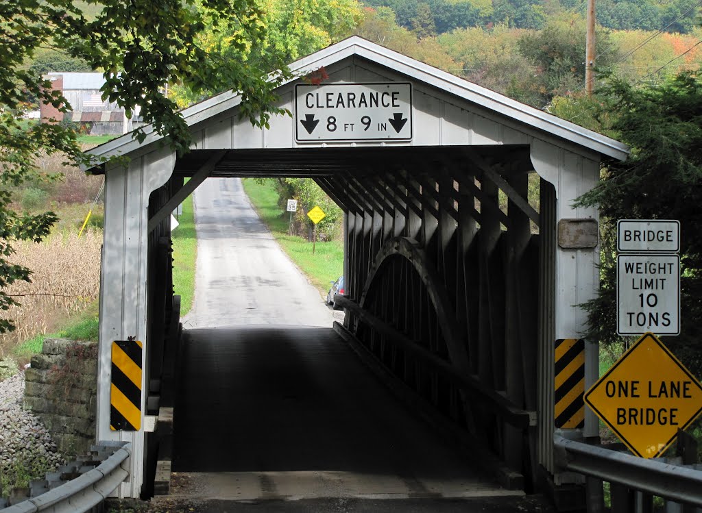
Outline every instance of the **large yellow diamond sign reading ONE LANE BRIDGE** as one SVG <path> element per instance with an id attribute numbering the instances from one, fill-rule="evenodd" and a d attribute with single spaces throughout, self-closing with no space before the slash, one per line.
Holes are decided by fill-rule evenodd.
<path id="1" fill-rule="evenodd" d="M 585 402 L 635 455 L 655 458 L 702 413 L 702 385 L 646 333 L 588 390 Z"/>

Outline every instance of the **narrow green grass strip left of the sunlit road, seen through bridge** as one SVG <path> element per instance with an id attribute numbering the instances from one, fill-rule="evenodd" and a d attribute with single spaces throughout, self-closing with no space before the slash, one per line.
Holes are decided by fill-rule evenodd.
<path id="1" fill-rule="evenodd" d="M 190 312 L 195 290 L 195 258 L 197 257 L 197 234 L 192 208 L 192 196 L 183 201 L 180 225 L 173 230 L 173 288 L 180 295 L 180 315 Z"/>

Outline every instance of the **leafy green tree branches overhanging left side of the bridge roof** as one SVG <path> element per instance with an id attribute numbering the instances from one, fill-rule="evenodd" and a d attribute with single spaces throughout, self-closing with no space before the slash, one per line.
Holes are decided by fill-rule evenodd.
<path id="1" fill-rule="evenodd" d="M 91 15 L 78 4 L 88 4 Z M 84 60 L 105 74 L 103 98 L 124 108 L 136 107 L 155 130 L 168 135 L 178 152 L 187 151 L 190 133 L 176 104 L 166 97 L 166 85 L 185 84 L 194 91 L 206 88 L 241 91 L 242 114 L 263 126 L 274 112 L 274 88 L 283 73 L 268 77 L 260 62 L 226 60 L 199 46 L 208 20 L 237 27 L 230 46 L 256 53 L 266 37 L 264 17 L 252 0 L 7 0 L 0 8 L 0 309 L 17 302 L 2 291 L 15 281 L 30 281 L 31 271 L 13 265 L 13 241 L 41 241 L 56 220 L 52 212 L 30 215 L 11 208 L 11 188 L 28 180 L 50 180 L 37 168 L 40 150 L 63 154 L 72 164 L 86 163 L 76 134 L 62 124 L 27 126 L 22 120 L 29 98 L 70 109 L 60 92 L 27 66 L 42 48 Z M 267 63 L 278 60 L 272 55 Z M 135 137 L 143 140 L 143 131 Z M 10 319 L 0 319 L 0 333 L 11 331 Z"/>

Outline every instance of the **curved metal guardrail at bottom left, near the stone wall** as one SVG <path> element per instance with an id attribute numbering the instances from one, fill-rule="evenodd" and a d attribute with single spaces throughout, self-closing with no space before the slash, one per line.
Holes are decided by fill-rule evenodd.
<path id="1" fill-rule="evenodd" d="M 129 472 L 120 465 L 131 455 L 131 443 L 117 449 L 107 460 L 76 479 L 46 493 L 3 509 L 3 513 L 85 513 L 105 500 Z"/>

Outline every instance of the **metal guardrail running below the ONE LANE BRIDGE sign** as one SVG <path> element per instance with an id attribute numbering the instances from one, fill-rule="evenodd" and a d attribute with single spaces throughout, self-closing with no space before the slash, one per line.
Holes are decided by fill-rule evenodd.
<path id="1" fill-rule="evenodd" d="M 554 439 L 554 448 L 556 464 L 564 469 L 702 507 L 702 470 L 644 460 L 558 435 Z"/>

